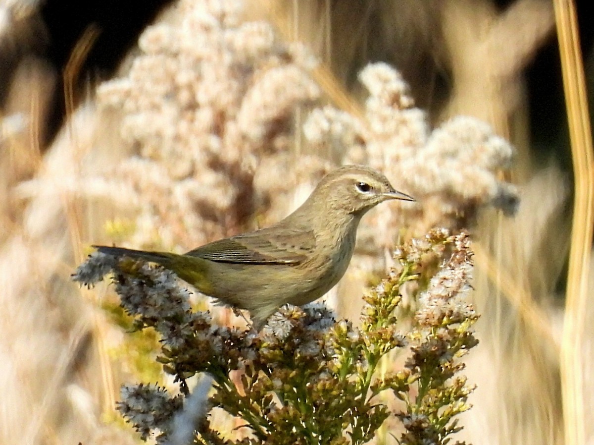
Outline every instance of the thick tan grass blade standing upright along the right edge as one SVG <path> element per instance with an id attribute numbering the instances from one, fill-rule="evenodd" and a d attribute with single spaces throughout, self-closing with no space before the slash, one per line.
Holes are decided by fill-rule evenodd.
<path id="1" fill-rule="evenodd" d="M 581 352 L 594 224 L 594 158 L 575 5 L 571 0 L 555 0 L 553 4 L 575 176 L 567 296 L 561 340 L 561 385 L 565 444 L 577 445 L 585 443 L 584 369 Z"/>

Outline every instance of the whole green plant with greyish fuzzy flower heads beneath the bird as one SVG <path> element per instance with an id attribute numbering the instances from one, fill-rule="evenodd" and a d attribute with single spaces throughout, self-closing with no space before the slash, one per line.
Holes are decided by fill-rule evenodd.
<path id="1" fill-rule="evenodd" d="M 192 400 L 187 379 L 206 373 L 214 393 L 188 406 L 207 406 L 205 413 L 223 409 L 242 420 L 246 435 L 225 441 L 210 415 L 194 417 L 195 443 L 366 443 L 391 415 L 376 397 L 387 391 L 403 402 L 393 412 L 404 429 L 399 443 L 445 444 L 460 430 L 455 416 L 469 408 L 472 391 L 458 374 L 460 358 L 477 343 L 470 329 L 478 315 L 466 300 L 471 256 L 467 234 L 449 236 L 447 230 L 401 246 L 399 266 L 365 297 L 360 328 L 336 321 L 324 303 L 283 306 L 260 333 L 219 327 L 207 312 L 189 308 L 189 293 L 171 272 L 98 253 L 77 269 L 74 280 L 89 286 L 112 269 L 122 307 L 137 328 L 153 327 L 160 334 L 157 361 L 175 375 L 180 394 L 126 386 L 118 405 L 145 440 L 154 434 L 158 443 L 169 443 L 173 419 L 183 412 L 184 400 Z M 429 272 L 435 269 L 431 264 L 437 273 Z M 428 286 L 419 293 L 412 328 L 403 333 L 397 319 L 400 292 L 413 280 Z M 386 355 L 406 350 L 405 368 L 378 378 Z M 206 397 L 207 391 L 200 391 Z"/>

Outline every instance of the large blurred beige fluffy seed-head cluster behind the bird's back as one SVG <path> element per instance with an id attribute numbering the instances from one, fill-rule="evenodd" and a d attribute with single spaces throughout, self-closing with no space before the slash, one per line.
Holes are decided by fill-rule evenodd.
<path id="1" fill-rule="evenodd" d="M 137 204 L 135 246 L 187 247 L 238 231 L 296 178 L 326 171 L 320 159 L 288 154 L 295 109 L 320 95 L 312 61 L 270 24 L 242 23 L 242 5 L 180 1 L 143 32 L 129 73 L 97 90 L 133 153 L 106 174 Z M 289 162 L 287 174 L 279 166 Z M 255 180 L 261 173 L 267 179 Z"/>

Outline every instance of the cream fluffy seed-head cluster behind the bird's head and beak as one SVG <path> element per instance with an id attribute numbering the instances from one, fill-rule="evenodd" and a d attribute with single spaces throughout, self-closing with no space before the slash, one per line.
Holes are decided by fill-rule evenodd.
<path id="1" fill-rule="evenodd" d="M 494 205 L 513 214 L 518 197 L 514 187 L 496 176 L 510 166 L 513 149 L 482 121 L 456 117 L 429 129 L 425 113 L 415 108 L 400 74 L 385 63 L 369 64 L 359 74 L 369 92 L 365 118 L 360 120 L 331 107 L 311 113 L 305 136 L 312 145 L 336 152 L 346 148 L 343 162 L 368 164 L 394 178 L 394 184 L 415 196 L 374 212 L 376 227 L 409 227 L 424 233 L 429 227 L 460 227 L 472 222 L 476 209 Z M 385 230 L 371 230 L 370 240 Z"/>

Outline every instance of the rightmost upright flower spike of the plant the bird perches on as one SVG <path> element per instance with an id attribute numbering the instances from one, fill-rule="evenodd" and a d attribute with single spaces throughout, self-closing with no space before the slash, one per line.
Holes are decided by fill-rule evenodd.
<path id="1" fill-rule="evenodd" d="M 459 374 L 465 368 L 460 359 L 478 344 L 470 328 L 479 316 L 468 301 L 472 289 L 471 242 L 465 232 L 445 235 L 443 230 L 431 231 L 421 246 L 403 250 L 400 257 L 402 264 L 414 267 L 412 259 L 434 256 L 444 247 L 451 250 L 448 261 L 418 297 L 405 370 L 386 378 L 406 404 L 406 410 L 397 414 L 406 430 L 401 444 L 447 441 L 449 435 L 462 429 L 455 417 L 470 408 L 466 401 L 475 388 Z M 414 400 L 410 398 L 411 380 L 416 384 Z"/>

